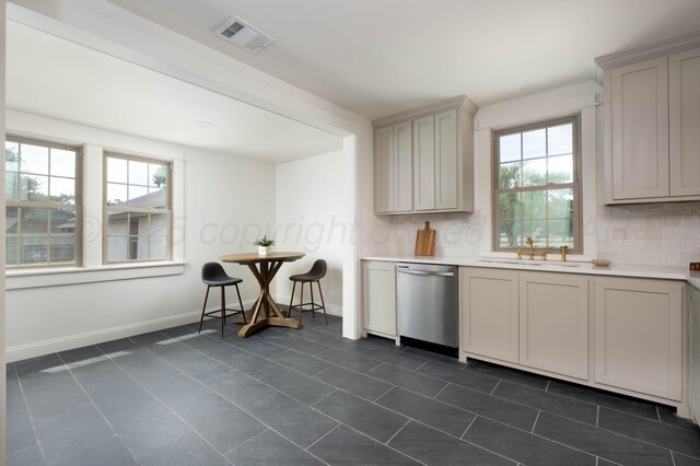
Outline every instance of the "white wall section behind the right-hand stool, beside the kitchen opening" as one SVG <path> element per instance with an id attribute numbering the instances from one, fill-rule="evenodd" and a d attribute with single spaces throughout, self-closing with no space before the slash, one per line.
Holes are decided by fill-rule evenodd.
<path id="1" fill-rule="evenodd" d="M 322 287 L 326 307 L 331 314 L 342 315 L 342 247 L 352 238 L 352 225 L 343 220 L 342 151 L 277 165 L 276 176 L 277 251 L 306 253 L 303 259 L 280 270 L 277 299 L 289 302 L 292 282 L 287 277 L 307 271 L 316 259 L 325 259 L 328 273 Z M 294 302 L 299 302 L 296 288 Z M 314 298 L 318 300 L 316 292 Z M 305 291 L 304 301 L 307 299 Z"/>

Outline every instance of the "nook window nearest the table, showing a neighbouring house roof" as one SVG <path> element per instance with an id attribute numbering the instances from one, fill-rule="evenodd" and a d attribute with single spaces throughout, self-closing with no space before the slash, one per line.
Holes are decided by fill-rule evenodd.
<path id="1" fill-rule="evenodd" d="M 103 261 L 171 258 L 171 164 L 105 154 Z"/>

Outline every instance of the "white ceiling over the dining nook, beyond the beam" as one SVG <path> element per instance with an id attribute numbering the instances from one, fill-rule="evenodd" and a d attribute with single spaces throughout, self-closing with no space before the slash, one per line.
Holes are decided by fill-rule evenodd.
<path id="1" fill-rule="evenodd" d="M 342 148 L 335 135 L 13 21 L 7 43 L 10 109 L 275 164 Z"/>

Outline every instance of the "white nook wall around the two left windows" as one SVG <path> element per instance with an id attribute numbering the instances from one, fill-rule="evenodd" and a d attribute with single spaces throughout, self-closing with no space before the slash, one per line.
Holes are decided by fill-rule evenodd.
<path id="1" fill-rule="evenodd" d="M 184 185 L 174 184 L 173 189 L 180 194 L 184 189 L 186 196 L 182 215 L 175 219 L 178 230 L 185 232 L 184 236 L 175 232 L 176 241 L 182 242 L 183 273 L 9 290 L 5 328 L 10 361 L 197 319 L 205 294 L 201 265 L 222 254 L 255 251 L 255 237 L 273 228 L 275 167 L 269 164 L 10 112 L 8 132 L 13 131 L 91 144 L 85 158 L 100 158 L 94 149 L 107 147 L 175 159 L 184 173 L 174 174 L 174 178 Z M 85 162 L 90 165 L 94 161 Z M 86 235 L 86 241 L 98 242 L 100 237 Z M 91 245 L 84 248 L 90 251 Z M 225 268 L 244 279 L 244 301 L 257 296 L 257 281 L 247 268 Z M 10 288 L 13 279 L 8 279 Z M 218 305 L 217 293 L 212 293 L 209 306 Z"/>

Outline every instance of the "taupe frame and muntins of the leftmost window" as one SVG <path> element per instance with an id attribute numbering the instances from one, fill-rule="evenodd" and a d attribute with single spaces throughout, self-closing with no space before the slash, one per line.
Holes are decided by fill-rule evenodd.
<path id="1" fill-rule="evenodd" d="M 75 154 L 75 176 L 74 176 L 74 199 L 73 199 L 73 203 L 60 203 L 60 202 L 50 202 L 50 201 L 32 201 L 32 200 L 20 200 L 20 199 L 8 199 L 5 197 L 4 199 L 4 207 L 5 207 L 5 212 L 7 212 L 7 208 L 8 207 L 16 207 L 19 209 L 23 208 L 23 207 L 30 207 L 30 208 L 39 208 L 39 209 L 57 209 L 57 208 L 66 208 L 66 207 L 72 207 L 72 210 L 75 213 L 75 229 L 74 229 L 74 244 L 73 244 L 73 260 L 71 261 L 56 261 L 52 263 L 50 260 L 46 261 L 46 263 L 32 263 L 32 264 L 13 264 L 10 265 L 7 263 L 7 231 L 5 231 L 5 244 L 3 245 L 3 247 L 5 247 L 5 268 L 8 271 L 15 271 L 15 270 L 40 270 L 40 269 L 62 269 L 62 268 L 71 268 L 71 267 L 82 267 L 83 265 L 83 220 L 84 220 L 84 215 L 83 215 L 83 189 L 84 189 L 84 173 L 83 173 L 83 147 L 81 144 L 71 144 L 71 143 L 67 143 L 67 142 L 60 142 L 57 140 L 49 140 L 49 139 L 43 139 L 43 138 L 34 138 L 34 137 L 26 137 L 26 136 L 18 136 L 18 135 L 13 135 L 13 133 L 7 133 L 5 135 L 5 144 L 8 142 L 15 142 L 19 144 L 31 144 L 31 145 L 40 145 L 40 147 L 45 147 L 49 150 L 49 154 L 50 154 L 50 150 L 51 149 L 58 149 L 58 150 L 69 150 L 74 152 Z M 7 162 L 5 162 L 7 163 Z M 7 165 L 5 165 L 7 166 Z M 7 170 L 5 170 L 7 172 Z M 23 172 L 19 171 L 18 175 L 21 174 Z M 44 175 L 42 175 L 44 176 Z M 51 171 L 50 171 L 50 155 L 49 155 L 49 171 L 48 174 L 46 175 L 47 177 L 51 176 Z M 60 177 L 65 177 L 65 176 L 60 176 Z M 5 180 L 7 183 L 7 180 Z M 7 187 L 5 187 L 7 189 Z M 50 195 L 50 193 L 49 193 Z M 7 213 L 5 213 L 7 214 Z M 7 228 L 7 225 L 5 225 Z M 48 233 L 48 235 L 50 236 L 50 232 Z M 18 238 L 18 253 L 21 249 L 21 235 L 18 234 L 16 238 Z M 48 258 L 50 259 L 50 246 L 49 246 L 49 254 L 48 254 Z"/>

